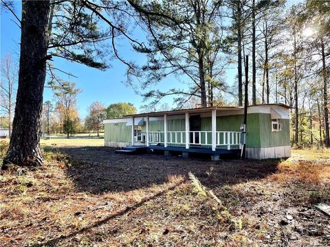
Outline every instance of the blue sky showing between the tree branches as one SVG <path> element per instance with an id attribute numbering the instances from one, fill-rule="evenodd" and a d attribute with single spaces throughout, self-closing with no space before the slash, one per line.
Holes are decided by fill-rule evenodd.
<path id="1" fill-rule="evenodd" d="M 289 5 L 296 1 L 297 0 L 289 1 Z M 15 1 L 15 3 L 15 12 L 18 16 L 21 16 L 21 1 Z M 14 16 L 10 12 L 1 12 L 0 52 L 1 58 L 3 58 L 5 54 L 12 54 L 12 60 L 16 60 L 18 64 L 21 30 L 12 20 L 14 20 Z M 137 36 L 143 35 L 137 34 Z M 126 60 L 133 60 L 138 64 L 143 64 L 145 61 L 145 58 L 140 54 L 136 54 L 127 43 L 122 43 L 120 47 L 118 47 L 118 51 L 120 56 Z M 63 80 L 76 82 L 77 86 L 83 89 L 83 92 L 78 95 L 78 110 L 80 117 L 85 117 L 87 115 L 87 107 L 96 100 L 102 102 L 105 106 L 116 102 L 131 102 L 135 105 L 137 110 L 140 110 L 140 106 L 145 104 L 140 95 L 135 94 L 133 89 L 122 83 L 122 81 L 125 80 L 126 65 L 122 64 L 119 60 L 112 60 L 109 64 L 111 64 L 110 69 L 107 69 L 107 71 L 100 71 L 98 69 L 86 67 L 83 64 L 69 62 L 61 58 L 54 58 L 55 67 L 78 77 L 69 78 L 68 75 L 57 73 Z M 228 67 L 236 67 L 236 65 L 230 64 Z M 236 69 L 228 69 L 226 71 L 225 80 L 229 85 L 234 82 L 235 75 Z M 166 90 L 173 87 L 183 88 L 183 85 L 175 78 L 167 78 L 157 85 L 157 89 L 159 90 Z M 44 102 L 47 100 L 54 101 L 54 96 L 51 89 L 45 88 Z M 173 106 L 170 97 L 164 99 L 162 103 L 168 103 L 170 107 Z"/>

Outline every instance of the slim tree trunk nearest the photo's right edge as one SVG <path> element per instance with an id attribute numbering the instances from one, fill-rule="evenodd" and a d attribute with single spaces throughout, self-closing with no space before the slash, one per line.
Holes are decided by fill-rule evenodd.
<path id="1" fill-rule="evenodd" d="M 323 75 L 323 104 L 325 105 L 325 146 L 330 147 L 329 137 L 329 109 L 328 109 L 328 86 L 327 86 L 327 66 L 325 64 L 325 43 L 321 38 L 321 51 L 322 51 L 322 75 Z"/>

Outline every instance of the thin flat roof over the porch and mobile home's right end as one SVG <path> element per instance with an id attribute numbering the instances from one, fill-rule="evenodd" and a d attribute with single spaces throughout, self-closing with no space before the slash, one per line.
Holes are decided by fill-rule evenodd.
<path id="1" fill-rule="evenodd" d="M 248 106 L 248 108 L 254 106 L 282 106 L 284 108 L 292 108 L 291 106 L 287 106 L 285 104 L 256 104 Z M 159 117 L 167 115 L 183 115 L 185 113 L 209 113 L 211 110 L 243 110 L 244 106 L 210 106 L 205 108 L 190 108 L 190 109 L 181 109 L 181 110 L 165 110 L 159 112 L 151 112 L 151 113 L 139 113 L 133 115 L 125 115 L 124 117 Z"/>

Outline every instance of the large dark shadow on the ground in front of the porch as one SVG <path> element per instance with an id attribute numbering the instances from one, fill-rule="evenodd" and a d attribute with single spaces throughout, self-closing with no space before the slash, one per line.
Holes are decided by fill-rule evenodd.
<path id="1" fill-rule="evenodd" d="M 68 176 L 80 191 L 131 191 L 168 182 L 168 176 L 192 172 L 209 188 L 259 180 L 276 172 L 279 161 L 210 161 L 156 154 L 115 154 L 113 148 L 62 148 L 76 161 Z"/>

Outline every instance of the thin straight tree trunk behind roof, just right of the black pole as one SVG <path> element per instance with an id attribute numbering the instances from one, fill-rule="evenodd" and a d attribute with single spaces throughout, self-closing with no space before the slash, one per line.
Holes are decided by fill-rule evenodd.
<path id="1" fill-rule="evenodd" d="M 239 106 L 243 106 L 243 83 L 242 83 L 242 34 L 241 34 L 241 3 L 237 1 L 237 69 L 239 77 Z"/>

